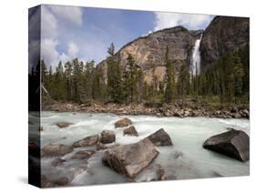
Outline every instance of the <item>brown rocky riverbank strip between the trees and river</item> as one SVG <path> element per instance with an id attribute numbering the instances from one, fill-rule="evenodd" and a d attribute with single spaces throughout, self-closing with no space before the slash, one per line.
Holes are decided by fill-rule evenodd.
<path id="1" fill-rule="evenodd" d="M 143 104 L 74 104 L 60 103 L 43 105 L 43 110 L 58 112 L 113 113 L 116 115 L 152 115 L 158 117 L 220 117 L 249 118 L 249 106 L 209 107 L 206 104 L 173 104 L 153 106 Z"/>

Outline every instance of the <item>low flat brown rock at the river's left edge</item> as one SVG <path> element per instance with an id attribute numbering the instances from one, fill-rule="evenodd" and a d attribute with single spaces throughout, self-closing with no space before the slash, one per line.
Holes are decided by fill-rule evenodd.
<path id="1" fill-rule="evenodd" d="M 54 156 L 64 156 L 65 154 L 73 151 L 74 147 L 65 146 L 58 143 L 50 143 L 42 149 L 43 157 L 54 157 Z"/>

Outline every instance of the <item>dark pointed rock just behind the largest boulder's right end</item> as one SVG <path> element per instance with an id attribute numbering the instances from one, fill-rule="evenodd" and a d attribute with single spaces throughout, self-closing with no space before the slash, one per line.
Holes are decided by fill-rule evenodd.
<path id="1" fill-rule="evenodd" d="M 169 135 L 163 128 L 147 137 L 155 146 L 172 146 Z"/>

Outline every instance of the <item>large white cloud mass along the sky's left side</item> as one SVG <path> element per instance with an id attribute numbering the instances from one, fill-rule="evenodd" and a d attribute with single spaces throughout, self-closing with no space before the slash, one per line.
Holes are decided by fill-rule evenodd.
<path id="1" fill-rule="evenodd" d="M 76 43 L 63 38 L 70 25 L 72 29 L 82 25 L 82 9 L 73 6 L 42 5 L 41 6 L 41 59 L 44 59 L 47 66 L 55 69 L 58 62 L 63 63 L 77 57 L 79 48 Z M 68 24 L 68 25 L 67 25 Z M 67 51 L 58 51 L 60 40 Z M 68 44 L 66 45 L 66 42 Z"/>

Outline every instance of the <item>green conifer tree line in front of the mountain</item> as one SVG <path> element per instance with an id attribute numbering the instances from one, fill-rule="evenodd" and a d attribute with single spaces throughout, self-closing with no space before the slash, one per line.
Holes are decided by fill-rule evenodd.
<path id="1" fill-rule="evenodd" d="M 218 98 L 220 103 L 249 102 L 249 48 L 223 56 L 219 61 L 206 67 L 195 76 L 189 73 L 189 66 L 180 66 L 175 72 L 169 47 L 166 48 L 166 73 L 161 81 L 155 75 L 154 61 L 148 57 L 152 66 L 152 81 L 144 79 L 143 69 L 133 56 L 128 55 L 126 65 L 121 68 L 115 57 L 115 46 L 108 47 L 107 73 L 103 66 L 95 62 L 82 62 L 77 58 L 62 64 L 55 71 L 42 60 L 41 79 L 48 95 L 57 101 L 75 103 L 173 103 L 188 98 Z M 36 76 L 38 67 L 32 68 L 30 76 Z"/>

